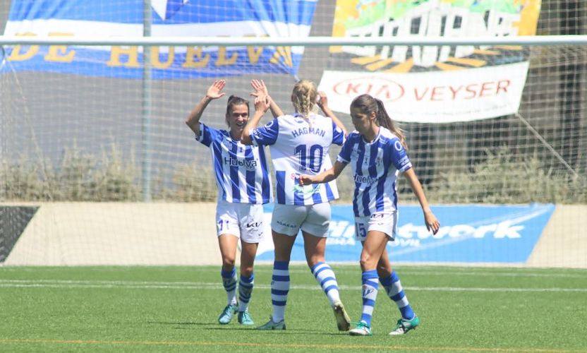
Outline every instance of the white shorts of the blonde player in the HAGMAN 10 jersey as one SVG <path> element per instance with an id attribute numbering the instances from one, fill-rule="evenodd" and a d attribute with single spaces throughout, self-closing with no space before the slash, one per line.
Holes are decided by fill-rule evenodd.
<path id="1" fill-rule="evenodd" d="M 315 237 L 328 236 L 330 225 L 330 203 L 315 205 L 281 205 L 275 204 L 271 217 L 271 229 L 291 237 L 298 235 L 300 229 Z"/>

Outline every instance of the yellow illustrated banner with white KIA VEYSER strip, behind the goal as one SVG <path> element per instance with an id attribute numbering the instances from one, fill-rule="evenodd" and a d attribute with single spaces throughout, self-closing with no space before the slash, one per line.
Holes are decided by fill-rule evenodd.
<path id="1" fill-rule="evenodd" d="M 339 0 L 335 37 L 534 35 L 540 0 Z M 528 52 L 516 46 L 330 47 L 320 90 L 349 113 L 354 97 L 379 98 L 398 121 L 449 123 L 517 112 Z"/>

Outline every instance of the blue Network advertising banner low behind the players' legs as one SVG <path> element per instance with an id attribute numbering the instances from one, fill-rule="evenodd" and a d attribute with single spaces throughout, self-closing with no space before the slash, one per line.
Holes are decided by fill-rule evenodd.
<path id="1" fill-rule="evenodd" d="M 442 205 L 432 207 L 440 231 L 432 235 L 419 206 L 399 206 L 397 237 L 387 251 L 392 262 L 412 263 L 525 263 L 543 232 L 555 205 Z M 266 210 L 267 224 L 271 210 Z M 361 243 L 355 240 L 353 208 L 333 205 L 327 239 L 327 261 L 356 262 Z M 273 260 L 271 230 L 257 259 Z M 291 261 L 305 261 L 303 237 L 297 237 Z"/>

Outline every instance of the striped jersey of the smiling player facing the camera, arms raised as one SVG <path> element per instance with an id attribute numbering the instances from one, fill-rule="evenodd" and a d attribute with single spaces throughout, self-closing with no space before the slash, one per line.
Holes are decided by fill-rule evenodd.
<path id="1" fill-rule="evenodd" d="M 226 130 L 200 122 L 196 140 L 210 148 L 218 200 L 229 203 L 270 203 L 272 187 L 265 150 L 233 140 Z"/>

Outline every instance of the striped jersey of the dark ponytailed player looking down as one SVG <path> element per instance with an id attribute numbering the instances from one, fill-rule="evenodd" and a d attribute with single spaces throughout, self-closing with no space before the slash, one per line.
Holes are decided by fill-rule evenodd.
<path id="1" fill-rule="evenodd" d="M 355 217 L 397 211 L 397 175 L 412 164 L 394 133 L 380 127 L 375 140 L 366 143 L 360 133 L 353 131 L 337 160 L 353 167 Z"/>

